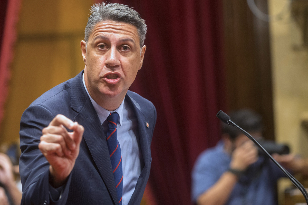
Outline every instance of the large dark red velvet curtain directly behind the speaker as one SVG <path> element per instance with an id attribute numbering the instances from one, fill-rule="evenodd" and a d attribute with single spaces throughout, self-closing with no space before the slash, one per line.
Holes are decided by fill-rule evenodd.
<path id="1" fill-rule="evenodd" d="M 191 204 L 197 156 L 220 139 L 225 108 L 221 0 L 117 0 L 148 25 L 144 65 L 131 90 L 156 106 L 149 184 L 157 204 Z"/>

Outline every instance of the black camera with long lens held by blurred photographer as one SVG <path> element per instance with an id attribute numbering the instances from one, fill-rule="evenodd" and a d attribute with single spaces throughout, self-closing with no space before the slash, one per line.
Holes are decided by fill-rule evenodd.
<path id="1" fill-rule="evenodd" d="M 270 155 L 277 153 L 279 155 L 286 155 L 290 153 L 290 148 L 286 144 L 277 144 L 270 140 L 257 140 L 258 143 L 268 152 Z M 260 148 L 258 148 L 259 155 L 265 154 Z"/>

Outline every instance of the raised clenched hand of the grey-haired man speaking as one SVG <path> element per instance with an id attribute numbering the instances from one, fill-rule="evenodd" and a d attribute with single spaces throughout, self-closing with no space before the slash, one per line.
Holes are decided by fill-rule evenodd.
<path id="1" fill-rule="evenodd" d="M 73 132 L 68 132 L 65 127 Z M 73 170 L 83 131 L 82 125 L 60 114 L 42 130 L 39 149 L 50 164 L 52 186 L 62 186 Z"/>

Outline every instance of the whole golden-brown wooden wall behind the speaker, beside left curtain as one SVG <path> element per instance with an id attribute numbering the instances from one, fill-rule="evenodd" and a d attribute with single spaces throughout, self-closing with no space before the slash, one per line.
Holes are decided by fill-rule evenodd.
<path id="1" fill-rule="evenodd" d="M 0 143 L 19 142 L 22 112 L 84 68 L 80 41 L 92 0 L 22 2 Z"/>

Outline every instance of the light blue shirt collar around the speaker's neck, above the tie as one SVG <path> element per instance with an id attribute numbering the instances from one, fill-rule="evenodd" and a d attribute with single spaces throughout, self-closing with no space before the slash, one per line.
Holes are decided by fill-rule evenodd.
<path id="1" fill-rule="evenodd" d="M 119 117 L 120 117 L 120 119 L 119 119 L 120 125 L 122 125 L 124 99 L 123 99 L 122 103 L 120 104 L 120 106 L 119 106 L 118 108 L 116 108 L 114 111 L 111 111 L 111 112 L 110 112 L 110 111 L 106 110 L 105 108 L 101 107 L 99 104 L 97 104 L 97 103 L 93 100 L 93 98 L 90 96 L 90 94 L 89 94 L 89 92 L 88 92 L 88 89 L 87 89 L 87 87 L 86 87 L 86 84 L 85 84 L 85 82 L 84 82 L 84 73 L 82 74 L 82 82 L 83 82 L 84 88 L 85 88 L 86 91 L 87 91 L 88 96 L 90 97 L 90 100 L 91 100 L 91 102 L 92 102 L 92 104 L 93 104 L 93 107 L 94 107 L 94 109 L 95 109 L 95 111 L 96 111 L 96 113 L 97 113 L 97 115 L 98 115 L 98 117 L 99 117 L 100 124 L 103 124 L 103 122 L 107 119 L 107 117 L 109 116 L 109 114 L 110 114 L 111 112 L 117 112 L 117 113 L 119 114 Z"/>

